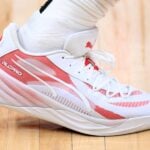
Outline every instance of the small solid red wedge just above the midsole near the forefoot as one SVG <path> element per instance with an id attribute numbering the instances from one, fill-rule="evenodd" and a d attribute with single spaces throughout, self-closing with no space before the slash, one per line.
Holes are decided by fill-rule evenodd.
<path id="1" fill-rule="evenodd" d="M 96 106 L 95 107 L 95 111 L 98 112 L 99 114 L 101 114 L 102 116 L 104 116 L 105 118 L 107 119 L 125 119 L 125 117 L 119 115 L 119 114 L 116 114 L 114 112 L 111 112 L 109 110 L 106 110 L 102 107 L 99 107 L 99 106 Z"/>

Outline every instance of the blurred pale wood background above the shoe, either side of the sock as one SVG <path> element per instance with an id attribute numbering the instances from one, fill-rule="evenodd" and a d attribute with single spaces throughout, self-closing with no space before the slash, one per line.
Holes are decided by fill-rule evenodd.
<path id="1" fill-rule="evenodd" d="M 23 24 L 44 2 L 0 0 L 0 32 L 10 22 Z M 98 47 L 116 56 L 118 78 L 150 91 L 150 1 L 120 0 L 98 26 Z"/>

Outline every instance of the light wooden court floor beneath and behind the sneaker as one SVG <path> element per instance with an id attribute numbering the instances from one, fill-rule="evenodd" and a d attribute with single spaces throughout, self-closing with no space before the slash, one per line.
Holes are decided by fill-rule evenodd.
<path id="1" fill-rule="evenodd" d="M 38 0 L 0 0 L 0 31 L 19 24 Z M 150 1 L 121 0 L 99 23 L 98 46 L 116 56 L 114 74 L 150 91 Z M 150 131 L 118 137 L 91 137 L 0 108 L 0 150 L 150 150 Z"/>

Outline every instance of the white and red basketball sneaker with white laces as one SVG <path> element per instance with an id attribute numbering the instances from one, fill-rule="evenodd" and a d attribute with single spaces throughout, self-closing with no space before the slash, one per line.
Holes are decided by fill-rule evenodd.
<path id="1" fill-rule="evenodd" d="M 0 103 L 17 111 L 96 136 L 150 128 L 150 95 L 122 85 L 91 58 L 96 29 L 70 36 L 63 50 L 33 54 L 19 44 L 11 24 L 0 42 Z"/>

